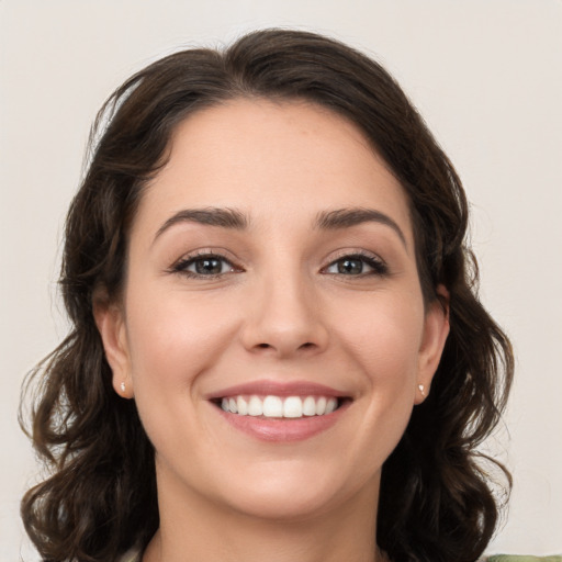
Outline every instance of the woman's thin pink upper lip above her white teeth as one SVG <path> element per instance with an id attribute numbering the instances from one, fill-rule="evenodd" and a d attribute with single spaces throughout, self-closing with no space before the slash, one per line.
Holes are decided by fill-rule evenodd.
<path id="1" fill-rule="evenodd" d="M 344 398 L 350 397 L 348 393 L 338 391 L 324 384 L 311 381 L 272 381 L 260 380 L 236 384 L 227 389 L 221 389 L 210 393 L 207 400 L 225 398 L 239 395 L 273 395 L 273 396 L 326 396 Z"/>

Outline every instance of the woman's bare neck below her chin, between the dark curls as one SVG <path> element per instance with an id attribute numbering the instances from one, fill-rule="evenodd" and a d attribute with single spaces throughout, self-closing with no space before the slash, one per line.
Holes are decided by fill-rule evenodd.
<path id="1" fill-rule="evenodd" d="M 159 482 L 160 528 L 143 562 L 384 562 L 375 539 L 378 486 L 331 509 L 272 519 Z"/>

